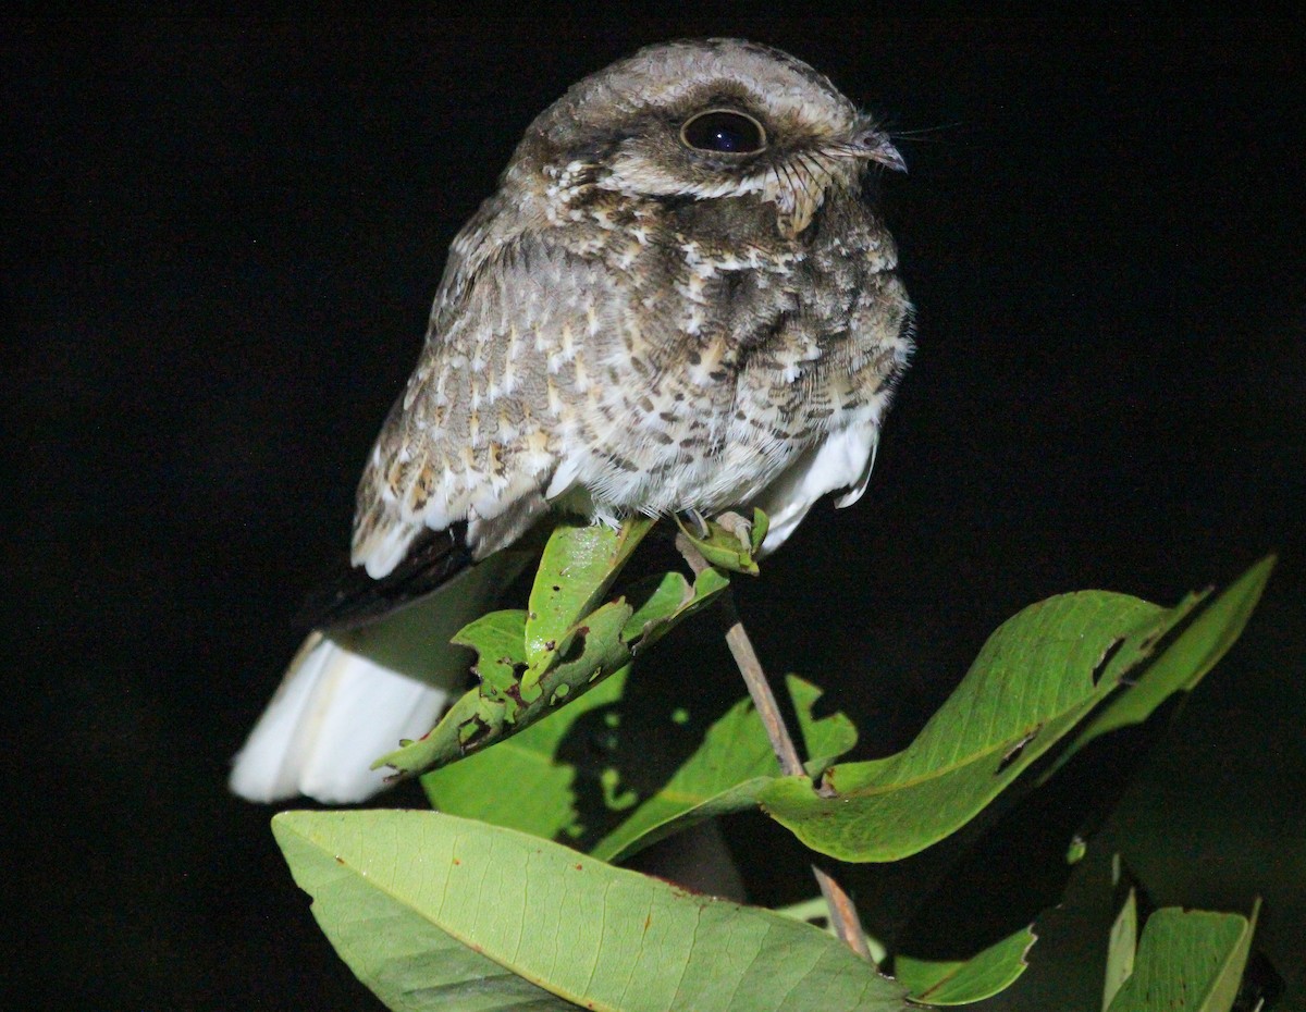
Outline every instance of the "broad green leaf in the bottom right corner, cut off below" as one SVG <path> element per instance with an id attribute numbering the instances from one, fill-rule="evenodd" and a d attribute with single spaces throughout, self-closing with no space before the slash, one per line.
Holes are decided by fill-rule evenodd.
<path id="1" fill-rule="evenodd" d="M 1157 910 L 1143 927 L 1134 973 L 1110 1012 L 1229 1012 L 1247 965 L 1260 904 L 1251 918 L 1205 910 Z"/>

